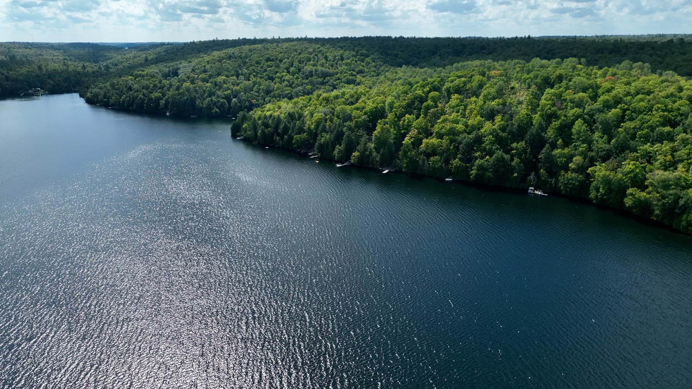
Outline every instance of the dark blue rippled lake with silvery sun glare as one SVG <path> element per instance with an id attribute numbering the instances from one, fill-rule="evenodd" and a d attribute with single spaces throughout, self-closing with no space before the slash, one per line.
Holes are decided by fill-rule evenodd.
<path id="1" fill-rule="evenodd" d="M 221 132 L 219 132 L 221 131 Z M 2 388 L 689 388 L 692 238 L 0 102 Z"/>

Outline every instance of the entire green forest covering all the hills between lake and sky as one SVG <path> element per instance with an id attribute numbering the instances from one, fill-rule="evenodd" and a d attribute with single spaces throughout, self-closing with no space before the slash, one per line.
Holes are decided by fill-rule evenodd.
<path id="1" fill-rule="evenodd" d="M 688 36 L 235 39 L 50 46 L 45 60 L 4 45 L 0 88 L 53 82 L 126 111 L 231 116 L 233 136 L 262 144 L 540 187 L 692 233 Z"/>

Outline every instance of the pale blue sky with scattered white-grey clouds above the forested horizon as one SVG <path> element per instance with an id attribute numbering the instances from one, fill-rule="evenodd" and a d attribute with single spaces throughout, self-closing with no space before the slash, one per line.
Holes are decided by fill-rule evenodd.
<path id="1" fill-rule="evenodd" d="M 692 0 L 0 0 L 0 41 L 692 32 Z"/>

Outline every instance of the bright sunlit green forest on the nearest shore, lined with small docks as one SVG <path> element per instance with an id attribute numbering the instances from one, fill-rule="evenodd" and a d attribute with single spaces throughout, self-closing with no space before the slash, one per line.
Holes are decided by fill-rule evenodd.
<path id="1" fill-rule="evenodd" d="M 692 232 L 692 83 L 682 77 L 534 59 L 376 80 L 272 102 L 233 127 L 255 140 L 251 123 L 279 117 L 292 130 L 277 145 L 309 135 L 300 148 L 325 158 L 540 187 Z"/>

